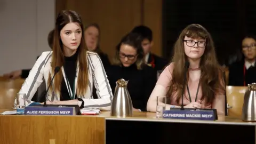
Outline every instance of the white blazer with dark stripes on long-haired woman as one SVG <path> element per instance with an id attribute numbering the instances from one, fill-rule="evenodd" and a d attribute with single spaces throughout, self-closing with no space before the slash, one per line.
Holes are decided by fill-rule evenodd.
<path id="1" fill-rule="evenodd" d="M 85 108 L 100 108 L 101 110 L 110 110 L 113 94 L 111 91 L 111 87 L 108 82 L 108 78 L 103 68 L 102 62 L 100 57 L 97 53 L 89 52 L 86 53 L 87 63 L 88 63 L 88 71 L 89 71 L 89 85 L 87 87 L 87 91 L 85 95 L 77 95 L 78 98 L 82 98 L 84 100 L 84 107 Z M 35 92 L 37 91 L 38 86 L 43 82 L 47 82 L 49 78 L 49 72 L 51 77 L 54 74 L 51 67 L 51 58 L 52 58 L 52 51 L 43 52 L 41 56 L 37 59 L 35 65 L 31 69 L 29 76 L 26 78 L 25 82 L 23 83 L 20 93 L 26 93 L 27 102 L 26 105 L 29 105 L 31 99 L 33 98 Z M 75 78 L 75 90 L 77 84 L 77 78 L 79 73 L 79 62 L 77 63 L 77 72 Z M 69 86 L 67 84 L 65 78 L 65 72 L 63 71 L 63 67 L 61 68 L 63 77 L 65 79 L 65 83 L 67 89 Z M 98 99 L 93 99 L 93 83 L 97 90 Z M 52 83 L 53 84 L 53 83 Z M 48 87 L 46 83 L 46 87 Z M 54 84 L 53 84 L 54 87 Z M 75 92 L 76 93 L 76 92 Z M 57 101 L 60 100 L 60 92 L 50 92 L 47 94 L 47 99 L 50 101 Z M 22 100 L 19 100 L 22 102 Z M 14 102 L 15 105 L 15 102 Z"/>

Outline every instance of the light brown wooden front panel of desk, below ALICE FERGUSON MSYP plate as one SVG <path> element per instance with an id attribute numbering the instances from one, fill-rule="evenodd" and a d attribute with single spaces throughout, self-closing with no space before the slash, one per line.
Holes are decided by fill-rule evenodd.
<path id="1" fill-rule="evenodd" d="M 104 143 L 105 118 L 0 115 L 0 143 Z"/>

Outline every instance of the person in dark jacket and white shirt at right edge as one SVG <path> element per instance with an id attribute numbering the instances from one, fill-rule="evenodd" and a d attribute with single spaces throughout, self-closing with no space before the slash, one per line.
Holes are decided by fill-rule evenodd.
<path id="1" fill-rule="evenodd" d="M 243 59 L 229 66 L 228 85 L 247 86 L 256 82 L 256 38 L 246 36 L 242 41 Z"/>

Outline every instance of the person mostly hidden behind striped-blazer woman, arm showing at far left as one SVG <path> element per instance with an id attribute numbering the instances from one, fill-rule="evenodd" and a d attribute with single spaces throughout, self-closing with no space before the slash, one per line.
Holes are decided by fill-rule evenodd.
<path id="1" fill-rule="evenodd" d="M 54 33 L 54 29 L 50 31 L 47 37 L 48 45 L 51 49 L 53 45 L 53 33 Z M 36 59 L 38 58 L 39 56 Z M 11 73 L 4 74 L 4 77 L 11 78 L 11 79 L 27 78 L 30 70 L 31 69 L 15 70 L 15 71 L 12 71 Z"/>

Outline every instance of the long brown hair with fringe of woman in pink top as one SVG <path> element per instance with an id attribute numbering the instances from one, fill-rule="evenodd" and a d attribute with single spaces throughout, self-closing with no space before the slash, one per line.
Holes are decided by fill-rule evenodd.
<path id="1" fill-rule="evenodd" d="M 202 87 L 202 99 L 206 103 L 212 103 L 216 92 L 225 92 L 225 87 L 223 86 L 222 69 L 217 61 L 215 54 L 215 47 L 213 44 L 213 39 L 210 33 L 201 25 L 191 24 L 182 30 L 178 40 L 174 45 L 174 53 L 172 62 L 174 62 L 174 70 L 172 73 L 172 81 L 169 90 L 169 95 L 177 92 L 177 100 L 179 103 L 182 90 L 183 90 L 183 80 L 185 73 L 185 61 L 188 60 L 187 55 L 184 50 L 183 39 L 185 36 L 189 38 L 203 38 L 206 39 L 206 46 L 204 54 L 201 57 L 200 68 L 201 68 L 201 78 L 199 83 Z M 189 75 L 187 72 L 187 82 Z"/>

